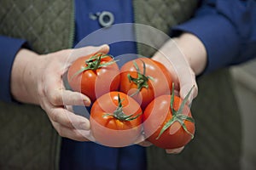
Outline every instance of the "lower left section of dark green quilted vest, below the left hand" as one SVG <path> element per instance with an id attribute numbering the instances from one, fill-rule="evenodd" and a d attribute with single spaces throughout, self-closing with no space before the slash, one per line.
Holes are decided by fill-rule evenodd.
<path id="1" fill-rule="evenodd" d="M 60 140 L 45 112 L 2 102 L 0 108 L 0 169 L 55 169 Z"/>

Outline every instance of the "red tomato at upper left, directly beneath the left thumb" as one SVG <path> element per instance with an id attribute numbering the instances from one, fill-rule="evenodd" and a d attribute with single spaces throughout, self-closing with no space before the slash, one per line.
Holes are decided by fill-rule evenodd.
<path id="1" fill-rule="evenodd" d="M 119 88 L 119 66 L 108 54 L 91 54 L 73 62 L 67 72 L 70 87 L 95 101 Z"/>

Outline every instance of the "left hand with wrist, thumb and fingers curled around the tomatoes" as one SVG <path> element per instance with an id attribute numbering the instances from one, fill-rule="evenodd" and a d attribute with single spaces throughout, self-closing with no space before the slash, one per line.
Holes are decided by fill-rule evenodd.
<path id="1" fill-rule="evenodd" d="M 38 55 L 21 49 L 15 57 L 11 73 L 11 93 L 22 103 L 40 105 L 62 137 L 93 140 L 89 120 L 75 115 L 70 109 L 72 105 L 88 106 L 90 99 L 84 94 L 67 90 L 62 77 L 75 59 L 98 52 L 108 53 L 108 50 L 108 45 L 103 45 Z"/>

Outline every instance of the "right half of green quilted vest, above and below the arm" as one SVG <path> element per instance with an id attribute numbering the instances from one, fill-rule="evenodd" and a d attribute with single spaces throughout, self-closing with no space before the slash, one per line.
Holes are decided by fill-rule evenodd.
<path id="1" fill-rule="evenodd" d="M 196 4 L 197 1 L 185 0 L 135 0 L 136 22 L 159 30 L 136 27 L 137 41 L 143 42 L 137 44 L 138 52 L 152 56 L 169 38 L 169 28 L 188 20 Z M 198 79 L 199 95 L 191 108 L 195 139 L 179 155 L 166 155 L 165 150 L 149 147 L 148 169 L 240 169 L 241 117 L 232 82 L 228 69 Z"/>

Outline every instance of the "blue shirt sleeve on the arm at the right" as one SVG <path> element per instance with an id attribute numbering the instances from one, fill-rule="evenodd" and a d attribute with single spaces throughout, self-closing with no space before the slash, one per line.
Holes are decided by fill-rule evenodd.
<path id="1" fill-rule="evenodd" d="M 183 31 L 199 37 L 205 45 L 205 72 L 253 59 L 256 57 L 256 1 L 202 1 L 195 16 L 175 26 L 172 35 Z"/>

